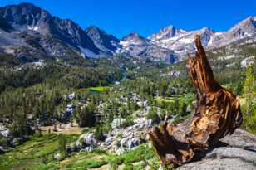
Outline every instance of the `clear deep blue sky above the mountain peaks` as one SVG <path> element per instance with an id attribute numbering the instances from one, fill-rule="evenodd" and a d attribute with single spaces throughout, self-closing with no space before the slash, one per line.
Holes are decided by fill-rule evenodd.
<path id="1" fill-rule="evenodd" d="M 119 38 L 130 32 L 149 36 L 169 25 L 225 31 L 245 17 L 256 16 L 255 0 L 0 0 L 0 6 L 20 2 L 32 2 L 83 28 L 101 27 Z"/>

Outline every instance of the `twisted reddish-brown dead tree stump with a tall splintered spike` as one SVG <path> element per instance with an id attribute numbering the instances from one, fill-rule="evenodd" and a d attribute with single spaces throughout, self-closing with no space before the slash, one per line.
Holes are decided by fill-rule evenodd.
<path id="1" fill-rule="evenodd" d="M 233 134 L 242 124 L 239 97 L 214 79 L 200 37 L 195 37 L 196 56 L 188 56 L 190 79 L 197 92 L 197 109 L 190 119 L 174 125 L 160 124 L 149 133 L 155 152 L 163 164 L 190 162 L 220 138 Z"/>

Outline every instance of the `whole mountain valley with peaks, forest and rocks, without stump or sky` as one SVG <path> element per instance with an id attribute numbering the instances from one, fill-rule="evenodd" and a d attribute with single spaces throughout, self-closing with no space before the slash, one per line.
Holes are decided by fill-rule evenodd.
<path id="1" fill-rule="evenodd" d="M 256 17 L 226 32 L 169 26 L 117 38 L 27 2 L 0 7 L 0 169 L 173 169 L 148 133 L 196 111 L 187 60 L 196 35 L 214 78 L 239 96 L 244 120 L 177 169 L 254 169 Z"/>

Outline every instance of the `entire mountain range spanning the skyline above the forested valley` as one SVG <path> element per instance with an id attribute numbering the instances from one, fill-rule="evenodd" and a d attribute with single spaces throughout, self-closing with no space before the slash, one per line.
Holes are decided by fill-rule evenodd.
<path id="1" fill-rule="evenodd" d="M 147 38 L 130 33 L 121 40 L 99 27 L 83 30 L 70 19 L 60 19 L 31 3 L 0 7 L 0 52 L 23 56 L 106 57 L 143 56 L 155 61 L 177 61 L 194 52 L 199 34 L 206 49 L 256 41 L 256 17 L 248 17 L 227 32 L 209 27 L 195 31 L 169 26 Z"/>

